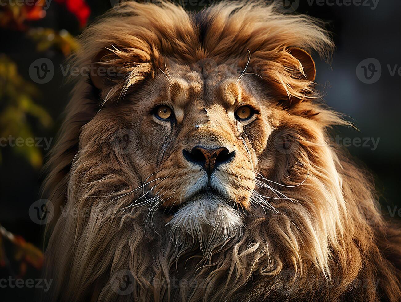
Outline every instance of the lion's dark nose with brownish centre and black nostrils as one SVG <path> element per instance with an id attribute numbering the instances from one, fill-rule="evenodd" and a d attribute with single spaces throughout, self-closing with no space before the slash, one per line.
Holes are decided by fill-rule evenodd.
<path id="1" fill-rule="evenodd" d="M 218 165 L 231 161 L 235 156 L 235 151 L 229 152 L 226 147 L 206 149 L 196 146 L 191 152 L 183 150 L 182 154 L 184 154 L 186 160 L 203 167 L 210 176 Z"/>

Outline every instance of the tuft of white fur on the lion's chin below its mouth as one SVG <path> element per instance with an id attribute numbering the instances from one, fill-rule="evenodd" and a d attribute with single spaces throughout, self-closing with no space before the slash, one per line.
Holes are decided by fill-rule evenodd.
<path id="1" fill-rule="evenodd" d="M 198 239 L 201 247 L 208 250 L 240 236 L 243 227 L 238 211 L 227 205 L 227 201 L 210 194 L 193 198 L 174 214 L 168 225 L 179 243 Z"/>

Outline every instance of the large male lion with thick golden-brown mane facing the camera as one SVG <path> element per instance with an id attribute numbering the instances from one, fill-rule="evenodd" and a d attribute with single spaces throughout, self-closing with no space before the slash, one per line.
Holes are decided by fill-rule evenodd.
<path id="1" fill-rule="evenodd" d="M 43 300 L 401 301 L 401 231 L 330 140 L 322 21 L 128 1 L 80 41 Z"/>

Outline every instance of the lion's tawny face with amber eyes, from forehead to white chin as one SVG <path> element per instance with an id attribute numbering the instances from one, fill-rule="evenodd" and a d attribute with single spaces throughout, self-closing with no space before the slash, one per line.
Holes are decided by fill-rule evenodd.
<path id="1" fill-rule="evenodd" d="M 124 109 L 132 112 L 125 120 L 138 120 L 130 127 L 136 138 L 130 156 L 142 164 L 152 211 L 192 234 L 208 225 L 231 237 L 242 225 L 271 132 L 266 101 L 247 87 L 250 80 L 228 70 L 221 65 L 204 78 L 199 65 L 170 63 L 124 105 L 132 107 Z"/>

